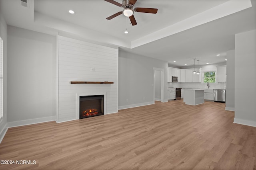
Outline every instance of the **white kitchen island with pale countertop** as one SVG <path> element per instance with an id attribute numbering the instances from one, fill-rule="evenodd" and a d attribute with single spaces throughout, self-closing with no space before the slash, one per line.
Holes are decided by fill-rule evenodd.
<path id="1" fill-rule="evenodd" d="M 188 105 L 198 105 L 204 103 L 204 88 L 184 89 L 183 102 Z"/>

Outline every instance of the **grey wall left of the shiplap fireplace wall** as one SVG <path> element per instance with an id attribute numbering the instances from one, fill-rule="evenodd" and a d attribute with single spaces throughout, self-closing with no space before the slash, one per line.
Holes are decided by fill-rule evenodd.
<path id="1" fill-rule="evenodd" d="M 56 37 L 8 25 L 9 126 L 55 120 L 55 70 Z"/>

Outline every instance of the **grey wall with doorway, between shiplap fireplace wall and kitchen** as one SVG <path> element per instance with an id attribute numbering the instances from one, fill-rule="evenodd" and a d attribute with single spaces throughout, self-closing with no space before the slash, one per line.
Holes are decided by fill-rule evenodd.
<path id="1" fill-rule="evenodd" d="M 154 67 L 164 69 L 167 101 L 167 62 L 119 50 L 118 109 L 154 104 Z"/>

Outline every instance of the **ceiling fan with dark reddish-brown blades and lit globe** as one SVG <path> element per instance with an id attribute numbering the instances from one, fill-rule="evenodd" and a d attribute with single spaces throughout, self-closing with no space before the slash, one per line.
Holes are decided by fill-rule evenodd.
<path id="1" fill-rule="evenodd" d="M 113 14 L 112 16 L 109 16 L 108 18 L 106 18 L 107 20 L 111 20 L 121 14 L 124 14 L 125 16 L 130 18 L 132 25 L 136 25 L 137 22 L 133 15 L 134 12 L 144 12 L 144 13 L 151 13 L 151 14 L 157 13 L 156 8 L 134 8 L 134 9 L 132 9 L 137 0 L 123 0 L 122 4 L 120 4 L 114 0 L 104 0 L 104 1 L 110 2 L 111 4 L 114 4 L 116 6 L 120 6 L 120 7 L 124 8 L 124 10 L 117 12 L 116 14 Z"/>

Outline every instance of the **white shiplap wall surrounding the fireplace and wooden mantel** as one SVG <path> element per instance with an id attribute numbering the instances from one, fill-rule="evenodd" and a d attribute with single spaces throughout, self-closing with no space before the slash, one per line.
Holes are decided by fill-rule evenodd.
<path id="1" fill-rule="evenodd" d="M 57 122 L 76 119 L 76 94 L 105 93 L 105 114 L 118 112 L 117 47 L 58 36 L 57 60 Z M 109 81 L 114 84 L 70 84 L 70 81 Z"/>

